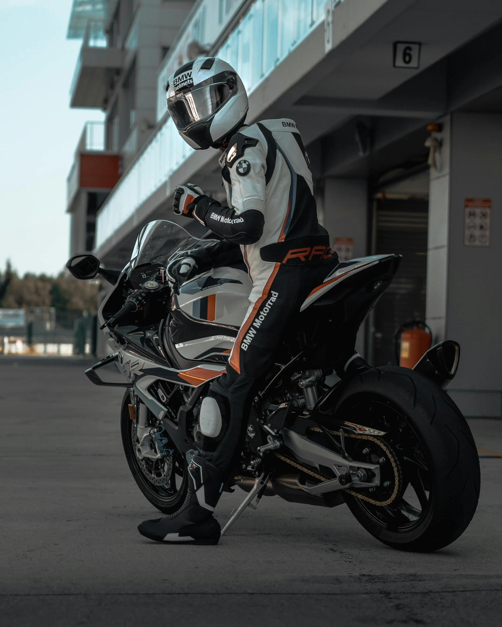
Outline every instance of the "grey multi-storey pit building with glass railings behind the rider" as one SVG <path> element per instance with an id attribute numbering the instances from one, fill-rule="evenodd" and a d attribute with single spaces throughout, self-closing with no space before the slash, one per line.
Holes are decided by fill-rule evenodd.
<path id="1" fill-rule="evenodd" d="M 191 150 L 165 105 L 176 68 L 218 56 L 248 90 L 248 123 L 297 123 L 339 254 L 403 255 L 361 354 L 392 363 L 396 327 L 425 319 L 461 344 L 462 411 L 501 416 L 501 20 L 498 0 L 74 0 L 71 105 L 106 120 L 68 178 L 72 254 L 120 268 L 142 224 L 174 219 L 176 184 L 223 198 L 218 153 Z"/>

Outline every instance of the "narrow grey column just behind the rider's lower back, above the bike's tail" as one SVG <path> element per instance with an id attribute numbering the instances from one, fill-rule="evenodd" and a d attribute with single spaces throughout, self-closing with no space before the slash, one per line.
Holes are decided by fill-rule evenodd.
<path id="1" fill-rule="evenodd" d="M 353 240 L 352 258 L 367 255 L 368 183 L 366 179 L 324 179 L 323 221 L 331 246 L 335 238 Z M 365 325 L 361 325 L 356 350 L 365 350 Z"/>

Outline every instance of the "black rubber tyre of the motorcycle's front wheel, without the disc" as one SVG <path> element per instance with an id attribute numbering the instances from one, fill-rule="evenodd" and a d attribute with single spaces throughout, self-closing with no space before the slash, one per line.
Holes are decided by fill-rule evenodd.
<path id="1" fill-rule="evenodd" d="M 122 446 L 124 446 L 125 459 L 131 470 L 132 477 L 144 496 L 163 514 L 174 514 L 183 505 L 188 492 L 187 463 L 184 455 L 174 451 L 171 475 L 164 485 L 156 485 L 149 481 L 140 467 L 140 461 L 136 456 L 135 446 L 132 441 L 133 421 L 129 417 L 129 403 L 131 402 L 129 391 L 126 391 L 122 399 L 122 411 L 120 412 L 120 434 Z"/>

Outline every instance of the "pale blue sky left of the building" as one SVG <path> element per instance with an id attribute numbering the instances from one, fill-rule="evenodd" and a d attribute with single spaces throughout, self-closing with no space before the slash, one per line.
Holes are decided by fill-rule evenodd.
<path id="1" fill-rule="evenodd" d="M 72 0 L 0 0 L 0 270 L 57 275 L 68 260 L 66 179 L 83 124 L 70 109 L 81 42 Z"/>

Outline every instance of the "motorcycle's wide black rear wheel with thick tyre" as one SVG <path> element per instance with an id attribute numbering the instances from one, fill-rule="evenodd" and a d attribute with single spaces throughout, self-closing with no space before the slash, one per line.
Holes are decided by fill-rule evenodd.
<path id="1" fill-rule="evenodd" d="M 385 431 L 380 441 L 398 469 L 398 485 L 391 478 L 373 493 L 344 491 L 371 535 L 396 549 L 428 552 L 466 530 L 478 505 L 479 458 L 466 419 L 441 387 L 405 368 L 373 368 L 348 384 L 333 415 Z M 377 441 L 353 445 L 353 459 L 388 464 Z"/>

